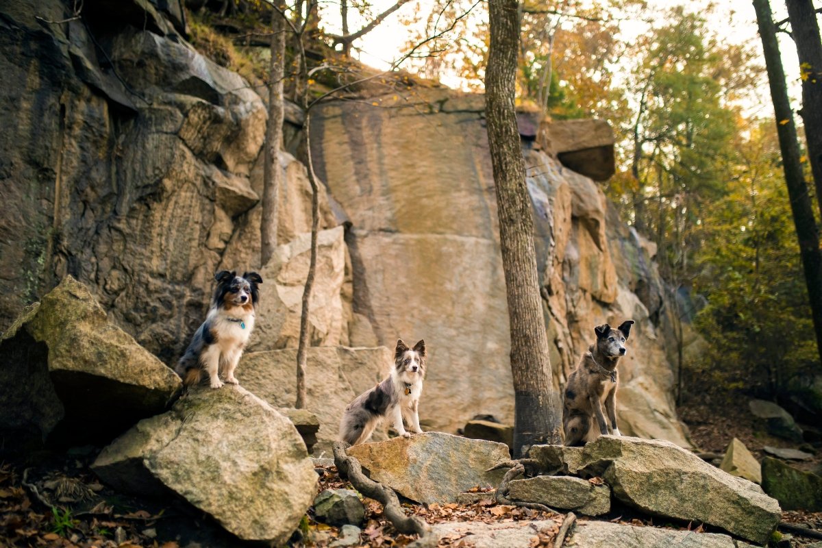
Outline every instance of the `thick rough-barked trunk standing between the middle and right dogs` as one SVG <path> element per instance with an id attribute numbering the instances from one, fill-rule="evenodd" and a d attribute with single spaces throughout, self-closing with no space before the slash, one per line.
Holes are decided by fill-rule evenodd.
<path id="1" fill-rule="evenodd" d="M 502 267 L 514 377 L 514 456 L 532 444 L 561 443 L 560 398 L 553 390 L 533 249 L 531 200 L 514 107 L 520 19 L 516 0 L 489 0 L 491 45 L 485 78 L 488 143 L 500 220 Z"/>

